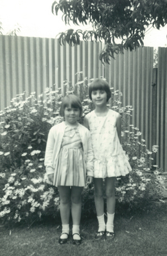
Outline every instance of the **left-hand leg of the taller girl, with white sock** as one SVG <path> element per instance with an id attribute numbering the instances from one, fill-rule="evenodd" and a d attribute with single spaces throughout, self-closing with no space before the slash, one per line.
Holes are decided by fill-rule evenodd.
<path id="1" fill-rule="evenodd" d="M 103 181 L 101 178 L 94 178 L 95 184 L 95 206 L 96 206 L 96 213 L 97 213 L 97 220 L 99 222 L 99 229 L 98 232 L 105 231 L 105 221 L 104 221 L 104 198 L 103 198 Z M 102 236 L 103 233 L 99 233 L 96 235 L 95 238 L 98 236 Z"/>

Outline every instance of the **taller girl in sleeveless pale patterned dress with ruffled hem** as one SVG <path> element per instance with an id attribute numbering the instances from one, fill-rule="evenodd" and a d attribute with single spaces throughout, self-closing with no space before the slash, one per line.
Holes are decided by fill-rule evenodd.
<path id="1" fill-rule="evenodd" d="M 114 238 L 115 177 L 131 171 L 130 164 L 121 146 L 121 115 L 106 106 L 111 91 L 103 79 L 89 85 L 89 98 L 95 110 L 84 118 L 84 126 L 91 132 L 94 162 L 95 206 L 99 230 L 95 238 Z M 107 222 L 104 220 L 103 179 L 107 206 Z"/>

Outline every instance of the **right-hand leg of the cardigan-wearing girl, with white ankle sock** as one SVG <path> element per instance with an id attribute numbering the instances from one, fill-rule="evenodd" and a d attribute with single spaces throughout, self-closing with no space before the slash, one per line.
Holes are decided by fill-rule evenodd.
<path id="1" fill-rule="evenodd" d="M 71 187 L 71 215 L 72 215 L 72 235 L 74 240 L 80 240 L 79 225 L 82 210 L 83 187 Z"/>

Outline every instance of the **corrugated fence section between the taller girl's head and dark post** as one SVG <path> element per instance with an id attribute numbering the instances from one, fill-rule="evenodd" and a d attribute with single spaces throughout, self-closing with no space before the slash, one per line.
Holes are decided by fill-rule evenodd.
<path id="1" fill-rule="evenodd" d="M 151 147 L 153 48 L 138 48 L 116 55 L 105 65 L 104 76 L 114 90 L 123 93 L 122 106 L 132 105 L 130 122 L 142 132 Z"/>

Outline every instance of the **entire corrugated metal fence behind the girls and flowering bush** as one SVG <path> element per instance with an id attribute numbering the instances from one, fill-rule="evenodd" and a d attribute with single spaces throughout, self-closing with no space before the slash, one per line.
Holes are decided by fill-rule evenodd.
<path id="1" fill-rule="evenodd" d="M 142 131 L 148 148 L 159 144 L 157 163 L 167 170 L 166 49 L 159 48 L 158 72 L 153 71 L 152 47 L 125 51 L 104 66 L 99 61 L 101 49 L 102 43 L 70 47 L 60 46 L 57 39 L 0 35 L 0 109 L 24 90 L 40 94 L 55 84 L 63 92 L 63 81 L 78 82 L 77 72 L 88 80 L 104 76 L 123 93 L 122 106 L 133 106 L 130 122 Z"/>

